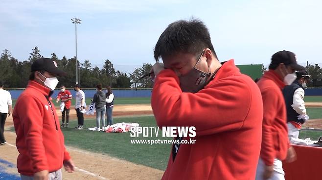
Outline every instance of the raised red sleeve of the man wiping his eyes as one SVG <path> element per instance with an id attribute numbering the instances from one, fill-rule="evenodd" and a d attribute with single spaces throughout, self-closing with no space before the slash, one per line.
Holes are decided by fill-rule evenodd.
<path id="1" fill-rule="evenodd" d="M 159 126 L 195 126 L 197 136 L 241 128 L 250 103 L 250 89 L 238 77 L 218 80 L 195 94 L 183 93 L 170 69 L 159 73 L 151 99 Z"/>

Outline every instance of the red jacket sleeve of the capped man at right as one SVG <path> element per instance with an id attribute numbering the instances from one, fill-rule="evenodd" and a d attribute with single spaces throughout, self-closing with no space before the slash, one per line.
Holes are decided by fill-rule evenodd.
<path id="1" fill-rule="evenodd" d="M 262 147 L 261 158 L 266 165 L 273 165 L 275 158 L 275 149 L 272 133 L 272 124 L 276 117 L 276 107 L 278 97 L 274 90 L 266 88 L 262 90 L 264 117 L 262 128 Z"/>

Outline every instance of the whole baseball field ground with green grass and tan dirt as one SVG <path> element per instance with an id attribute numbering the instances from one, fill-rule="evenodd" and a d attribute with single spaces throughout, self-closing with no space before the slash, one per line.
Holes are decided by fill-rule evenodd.
<path id="1" fill-rule="evenodd" d="M 90 99 L 86 99 L 89 104 Z M 322 129 L 322 96 L 305 97 L 310 120 L 303 128 Z M 14 100 L 15 102 L 15 100 Z M 58 106 L 58 104 L 55 104 Z M 61 113 L 58 111 L 60 115 Z M 115 99 L 114 121 L 136 122 L 140 126 L 157 126 L 149 98 Z M 77 130 L 75 110 L 70 110 L 69 128 L 62 128 L 65 144 L 76 166 L 69 174 L 63 170 L 64 180 L 160 180 L 166 168 L 171 144 L 132 144 L 130 133 L 92 132 L 95 117 L 85 116 L 84 129 Z M 0 177 L 19 180 L 16 162 L 18 151 L 12 118 L 6 120 L 4 133 L 8 142 L 0 146 Z M 160 133 L 159 133 L 160 135 Z M 322 131 L 302 130 L 300 138 L 316 140 Z M 149 139 L 163 139 L 153 137 Z M 53 147 L 54 148 L 54 147 Z"/>

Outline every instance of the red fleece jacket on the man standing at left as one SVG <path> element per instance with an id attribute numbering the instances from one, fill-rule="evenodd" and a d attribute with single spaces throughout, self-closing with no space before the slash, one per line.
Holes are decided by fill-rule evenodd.
<path id="1" fill-rule="evenodd" d="M 62 168 L 64 160 L 70 159 L 49 93 L 48 88 L 29 81 L 14 108 L 13 122 L 19 151 L 17 167 L 25 176 L 43 170 L 57 171 Z"/>

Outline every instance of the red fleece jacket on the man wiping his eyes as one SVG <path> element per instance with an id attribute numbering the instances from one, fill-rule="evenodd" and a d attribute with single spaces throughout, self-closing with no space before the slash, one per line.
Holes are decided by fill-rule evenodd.
<path id="1" fill-rule="evenodd" d="M 151 105 L 159 127 L 195 126 L 195 144 L 171 151 L 162 180 L 254 180 L 263 103 L 255 82 L 233 60 L 198 93 L 183 93 L 174 71 L 155 81 Z"/>

